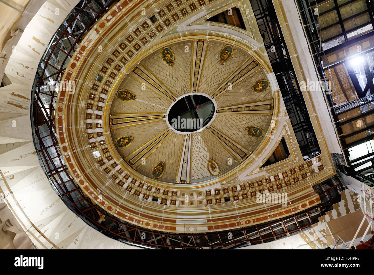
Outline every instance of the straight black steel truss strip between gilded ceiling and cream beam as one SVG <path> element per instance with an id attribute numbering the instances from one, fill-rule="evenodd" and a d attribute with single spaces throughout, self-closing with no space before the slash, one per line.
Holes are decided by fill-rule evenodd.
<path id="1" fill-rule="evenodd" d="M 251 0 L 270 63 L 304 159 L 321 153 L 271 0 Z"/>

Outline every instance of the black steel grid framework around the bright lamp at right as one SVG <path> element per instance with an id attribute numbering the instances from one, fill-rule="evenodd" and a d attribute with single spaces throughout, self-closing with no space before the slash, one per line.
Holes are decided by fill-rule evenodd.
<path id="1" fill-rule="evenodd" d="M 362 40 L 362 39 L 365 39 L 367 37 L 370 37 L 370 36 L 373 36 L 374 35 L 374 31 L 371 31 L 369 33 L 365 33 L 363 34 L 362 36 L 358 36 L 352 40 L 347 40 L 347 32 L 344 28 L 344 21 L 346 20 L 349 20 L 355 16 L 358 16 L 359 14 L 362 14 L 362 13 L 369 13 L 369 17 L 370 17 L 370 23 L 372 24 L 373 28 L 374 28 L 374 16 L 373 16 L 373 7 L 374 7 L 374 0 L 365 0 L 365 3 L 367 5 L 367 10 L 364 10 L 356 15 L 353 15 L 353 16 L 350 16 L 349 18 L 346 18 L 346 19 L 342 19 L 341 18 L 341 15 L 340 15 L 340 7 L 343 7 L 347 4 L 350 4 L 350 3 L 353 3 L 355 2 L 356 0 L 351 0 L 351 1 L 347 1 L 346 3 L 344 4 L 341 4 L 340 6 L 338 6 L 338 3 L 336 0 L 334 0 L 334 7 L 331 7 L 331 9 L 329 10 L 326 10 L 324 13 L 328 13 L 328 12 L 331 12 L 333 10 L 336 10 L 337 12 L 337 15 L 338 15 L 338 22 L 336 22 L 335 24 L 340 24 L 341 25 L 341 29 L 342 29 L 342 33 L 339 34 L 339 35 L 342 35 L 344 36 L 344 42 L 339 44 L 339 45 L 336 45 L 330 49 L 327 49 L 327 50 L 324 50 L 322 48 L 322 43 L 324 43 L 325 41 L 321 41 L 320 37 L 319 37 L 319 33 L 320 30 L 318 28 L 318 21 L 316 20 L 316 16 L 318 15 L 315 15 L 315 12 L 314 12 L 314 9 L 312 9 L 312 6 L 314 5 L 318 5 L 322 2 L 324 2 L 325 0 L 323 1 L 308 1 L 308 0 L 297 0 L 297 4 L 298 4 L 298 7 L 299 7 L 299 10 L 300 10 L 300 15 L 301 15 L 301 21 L 303 22 L 303 25 L 304 25 L 304 30 L 305 30 L 305 35 L 307 37 L 307 40 L 309 42 L 309 45 L 310 45 L 310 49 L 311 49 L 311 54 L 314 58 L 314 61 L 315 61 L 315 65 L 316 65 L 316 70 L 319 74 L 319 77 L 328 82 L 329 81 L 329 78 L 332 79 L 332 76 L 331 76 L 331 73 L 329 73 L 328 76 L 326 76 L 325 74 L 325 71 L 328 70 L 330 72 L 330 68 L 332 68 L 333 70 L 335 70 L 334 66 L 336 65 L 339 65 L 345 61 L 342 61 L 342 62 L 339 62 L 337 64 L 334 64 L 332 66 L 330 66 L 329 64 L 326 64 L 326 61 L 327 61 L 327 58 L 326 58 L 326 54 L 330 54 L 334 51 L 337 51 L 337 50 L 340 50 L 346 46 L 350 46 L 354 43 L 357 43 L 358 41 Z M 322 15 L 322 13 L 320 13 L 319 15 Z M 367 23 L 365 23 L 366 25 Z M 328 26 L 328 27 L 331 27 Z M 362 26 L 359 26 L 359 27 L 362 27 Z M 351 29 L 349 30 L 350 32 L 353 31 L 354 29 Z M 334 37 L 332 38 L 329 38 L 329 40 L 333 39 Z M 362 53 L 364 54 L 364 53 Z M 325 63 L 323 62 L 323 60 L 325 60 Z M 374 126 L 368 126 L 368 127 L 364 127 L 362 129 L 359 129 L 358 131 L 355 131 L 353 132 L 352 134 L 349 134 L 349 135 L 344 135 L 343 134 L 343 131 L 341 129 L 341 127 L 346 124 L 346 123 L 350 123 L 350 122 L 353 122 L 355 120 L 358 120 L 358 119 L 361 119 L 365 116 L 368 116 L 368 115 L 371 115 L 373 114 L 374 111 L 370 111 L 370 110 L 365 110 L 365 106 L 369 105 L 369 104 L 374 104 L 374 97 L 372 94 L 374 94 L 374 85 L 373 85 L 373 74 L 370 74 L 370 72 L 368 72 L 367 70 L 365 70 L 365 73 L 366 73 L 366 77 L 367 77 L 367 85 L 364 89 L 361 88 L 361 86 L 359 85 L 359 82 L 358 82 L 358 79 L 357 79 L 357 76 L 356 76 L 356 73 L 355 71 L 353 71 L 353 68 L 347 64 L 347 70 L 349 72 L 349 76 L 352 80 L 352 83 L 356 89 L 356 92 L 359 96 L 359 99 L 358 100 L 355 100 L 355 101 L 351 101 L 345 105 L 342 105 L 342 104 L 338 104 L 339 106 L 335 106 L 334 105 L 334 102 L 332 100 L 332 96 L 331 96 L 331 92 L 334 92 L 336 97 L 338 98 L 338 95 L 336 93 L 336 90 L 334 88 L 334 91 L 329 91 L 328 93 L 326 93 L 326 97 L 327 97 L 327 100 L 328 100 L 328 103 L 329 103 L 329 107 L 332 109 L 332 117 L 334 119 L 334 123 L 335 123 L 335 126 L 336 126 L 336 129 L 337 129 L 337 132 L 338 132 L 338 136 L 340 137 L 340 142 L 341 142 L 341 145 L 342 145 L 342 149 L 343 149 L 343 153 L 344 155 L 346 156 L 346 159 L 349 159 L 349 156 L 350 156 L 350 153 L 349 153 L 349 149 L 352 148 L 353 146 L 356 146 L 358 144 L 361 144 L 361 143 L 364 143 L 366 141 L 369 141 L 371 139 L 374 138 L 374 134 L 369 134 L 369 132 L 371 132 L 370 130 L 374 128 Z M 374 68 L 373 68 L 374 70 Z M 337 73 L 335 72 L 335 74 L 337 75 Z M 339 79 L 338 79 L 339 81 Z M 342 90 L 344 89 L 343 86 L 341 85 L 342 87 Z M 367 95 L 367 92 L 370 90 L 370 94 Z M 343 91 L 344 93 L 344 91 Z M 349 119 L 349 120 L 343 120 L 343 121 L 340 121 L 340 119 L 338 119 L 338 115 L 339 114 L 343 114 L 345 112 L 349 112 L 355 108 L 360 108 L 362 110 L 362 113 L 361 115 L 359 116 L 356 116 L 356 117 L 353 117 L 352 119 Z M 356 135 L 358 134 L 359 132 L 364 132 L 364 131 L 369 131 L 368 132 L 368 137 L 365 137 L 365 138 L 362 138 L 360 140 L 356 140 L 354 143 L 349 143 L 347 144 L 345 139 L 348 138 L 348 137 L 351 137 L 353 135 Z M 363 172 L 367 171 L 368 169 L 372 169 L 374 168 L 374 158 L 371 158 L 372 155 L 371 153 L 368 153 L 367 155 L 364 155 L 362 156 L 361 158 L 358 158 L 358 159 L 355 159 L 355 160 L 352 160 L 352 161 L 348 161 L 347 163 L 349 164 L 349 167 L 347 166 L 344 166 L 342 165 L 342 163 L 340 164 L 337 164 L 337 168 L 340 169 L 341 172 L 344 172 L 345 174 L 347 175 L 351 175 L 352 177 L 355 177 L 356 179 L 362 181 L 362 182 L 365 182 L 366 184 L 368 185 L 373 185 L 374 184 L 374 174 L 372 175 L 364 175 L 362 174 Z M 357 161 L 360 161 L 358 163 L 355 163 Z M 358 168 L 359 166 L 361 165 L 364 165 L 364 164 L 367 164 L 367 163 L 371 163 L 372 165 L 364 168 L 364 169 L 356 169 Z"/>

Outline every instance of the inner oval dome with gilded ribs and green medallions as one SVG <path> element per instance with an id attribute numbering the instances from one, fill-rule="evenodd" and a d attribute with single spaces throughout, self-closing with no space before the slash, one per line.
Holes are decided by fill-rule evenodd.
<path id="1" fill-rule="evenodd" d="M 212 38 L 168 45 L 173 64 L 156 49 L 113 93 L 113 143 L 125 162 L 145 177 L 169 183 L 209 180 L 232 171 L 266 138 L 273 116 L 266 73 L 247 51 L 225 43 Z M 225 47 L 231 54 L 222 61 Z M 170 107 L 193 94 L 213 101 L 213 116 L 203 128 L 178 131 L 169 123 Z M 201 98 L 195 101 L 193 111 L 201 110 L 203 117 Z M 161 176 L 153 173 L 157 164 Z"/>

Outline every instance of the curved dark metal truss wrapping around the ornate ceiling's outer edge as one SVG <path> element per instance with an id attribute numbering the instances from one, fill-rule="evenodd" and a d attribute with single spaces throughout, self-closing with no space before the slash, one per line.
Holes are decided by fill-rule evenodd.
<path id="1" fill-rule="evenodd" d="M 51 186 L 70 210 L 99 232 L 126 244 L 163 249 L 202 247 L 219 249 L 269 242 L 300 232 L 318 221 L 317 218 L 331 209 L 333 203 L 340 201 L 338 190 L 341 189 L 341 184 L 331 185 L 328 190 L 318 191 L 322 201 L 321 204 L 297 214 L 235 230 L 196 234 L 168 233 L 145 229 L 120 220 L 94 204 L 83 194 L 71 177 L 59 150 L 54 124 L 58 89 L 50 84 L 60 80 L 71 56 L 80 43 L 81 37 L 90 30 L 97 19 L 113 3 L 113 0 L 106 2 L 103 0 L 80 1 L 50 41 L 39 63 L 34 80 L 30 114 L 36 152 Z M 276 39 L 279 40 L 279 37 Z M 286 61 L 278 56 L 273 59 L 281 59 L 282 61 L 278 62 L 283 62 L 283 66 L 285 66 L 285 62 L 290 62 L 289 59 Z M 289 71 L 286 76 L 282 76 L 289 77 L 285 78 L 285 82 L 282 82 L 282 92 L 287 94 L 285 96 L 287 104 L 294 104 L 295 101 L 300 100 L 300 96 L 297 96 L 299 90 L 295 88 L 288 90 L 290 83 L 287 81 L 292 82 L 294 80 L 294 78 L 291 78 L 292 75 L 292 71 Z M 291 95 L 291 92 L 294 94 Z M 294 109 L 298 113 L 306 114 L 305 111 L 302 111 L 304 109 L 297 109 L 298 106 L 292 105 L 292 108 L 288 107 L 288 110 Z M 305 106 L 300 108 L 305 108 Z M 305 118 L 297 116 L 297 119 L 300 122 L 296 123 L 296 120 L 294 120 L 295 127 L 299 127 L 301 130 L 295 129 L 301 131 L 307 144 L 306 147 L 303 147 L 303 152 L 313 154 L 316 150 L 311 150 L 308 142 L 310 140 L 314 142 L 315 137 L 312 134 L 308 137 L 309 134 L 303 128 L 306 124 Z M 309 125 L 309 127 L 311 126 Z"/>

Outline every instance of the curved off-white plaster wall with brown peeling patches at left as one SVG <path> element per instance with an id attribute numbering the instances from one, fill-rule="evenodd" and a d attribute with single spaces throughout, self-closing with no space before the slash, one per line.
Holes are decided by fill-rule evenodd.
<path id="1" fill-rule="evenodd" d="M 4 180 L 0 180 L 0 187 L 6 195 L 13 192 L 30 219 L 31 223 L 16 203 L 10 201 L 23 229 L 31 227 L 27 235 L 37 248 L 55 248 L 49 239 L 63 249 L 139 249 L 104 236 L 70 211 L 50 186 L 33 144 L 30 98 L 36 69 L 52 35 L 78 2 L 49 0 L 30 17 L 29 23 L 20 21 L 27 27 L 5 68 L 12 84 L 0 88 L 0 168 L 10 190 Z M 56 8 L 59 15 L 55 14 Z"/>

